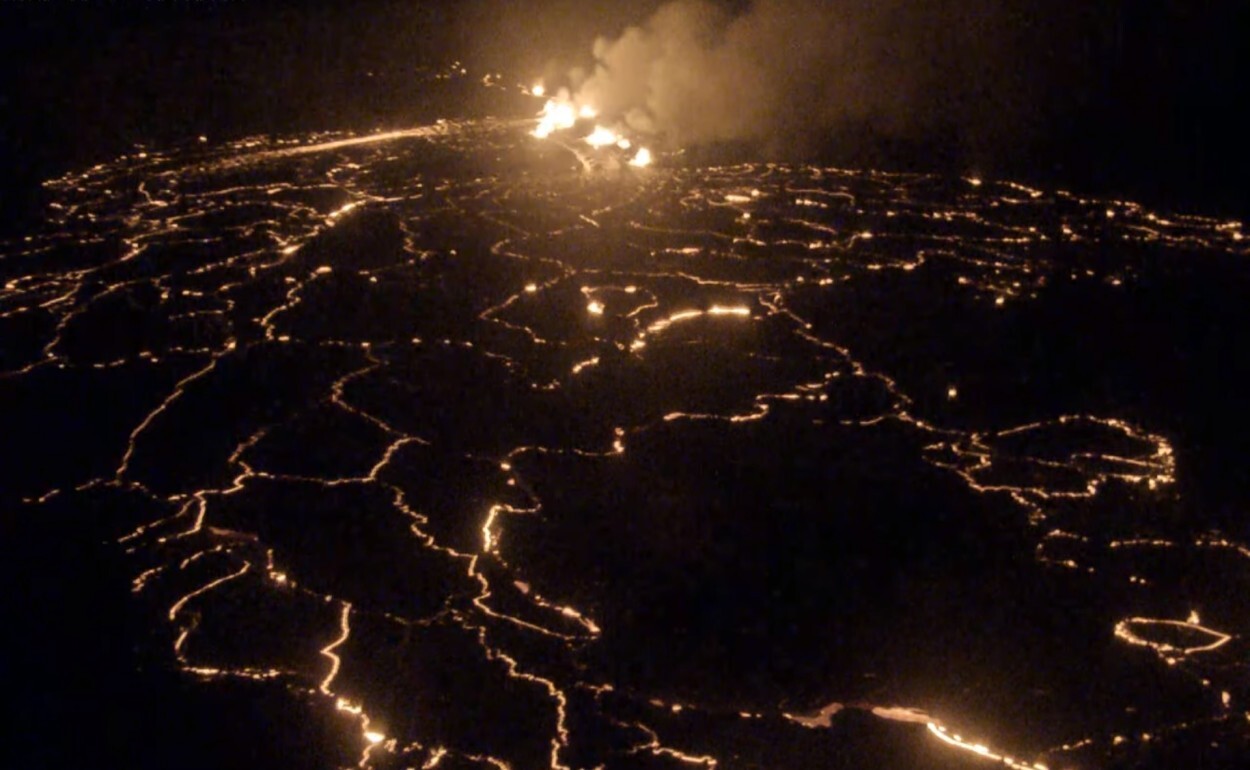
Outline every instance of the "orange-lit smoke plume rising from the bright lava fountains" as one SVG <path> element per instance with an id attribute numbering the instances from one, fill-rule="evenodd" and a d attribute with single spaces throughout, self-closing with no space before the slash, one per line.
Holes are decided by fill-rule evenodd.
<path id="1" fill-rule="evenodd" d="M 919 8 L 922 6 L 922 8 Z M 804 151 L 839 129 L 942 126 L 978 144 L 1020 118 L 1010 40 L 989 0 L 676 0 L 594 45 L 579 104 L 676 146 Z M 1004 75 L 1006 72 L 1006 76 Z"/>

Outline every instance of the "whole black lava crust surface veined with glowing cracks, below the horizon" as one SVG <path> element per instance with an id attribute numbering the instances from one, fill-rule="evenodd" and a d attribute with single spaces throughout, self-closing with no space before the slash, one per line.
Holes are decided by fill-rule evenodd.
<path id="1" fill-rule="evenodd" d="M 530 128 L 48 184 L 5 764 L 1241 766 L 1241 224 Z"/>

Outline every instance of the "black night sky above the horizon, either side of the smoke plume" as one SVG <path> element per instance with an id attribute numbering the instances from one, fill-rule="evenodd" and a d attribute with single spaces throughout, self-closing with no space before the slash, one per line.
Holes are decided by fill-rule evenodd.
<path id="1" fill-rule="evenodd" d="M 38 180 L 135 142 L 411 125 L 442 106 L 414 88 L 419 68 L 462 59 L 516 79 L 561 72 L 589 62 L 596 35 L 615 36 L 658 5 L 6 2 L 6 219 L 31 208 Z M 1244 2 L 1116 0 L 1062 11 L 1022 0 L 896 5 L 901 21 L 892 31 L 902 40 L 924 36 L 926 50 L 941 49 L 941 19 L 965 6 L 971 16 L 962 24 L 981 25 L 974 35 L 982 48 L 952 75 L 966 81 L 966 104 L 945 105 L 941 119 L 921 119 L 902 136 L 872 125 L 831 135 L 819 150 L 826 160 L 1246 210 L 1250 126 L 1238 109 L 1250 72 Z M 982 11 L 991 5 L 989 19 Z M 938 10 L 924 16 L 930 6 Z M 941 78 L 948 66 L 940 55 L 896 55 L 909 74 Z"/>

